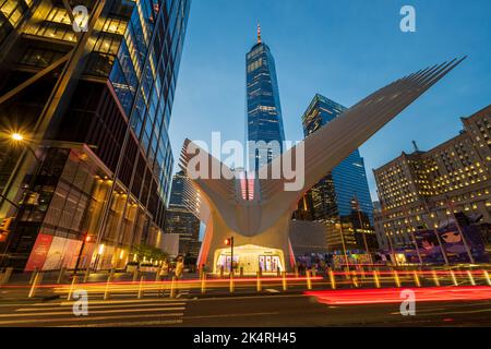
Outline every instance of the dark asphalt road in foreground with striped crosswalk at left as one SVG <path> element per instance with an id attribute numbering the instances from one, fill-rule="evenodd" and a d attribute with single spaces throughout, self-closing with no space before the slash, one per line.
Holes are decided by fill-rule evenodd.
<path id="1" fill-rule="evenodd" d="M 417 303 L 415 316 L 398 304 L 332 306 L 303 294 L 95 299 L 87 316 L 73 303 L 2 300 L 0 326 L 491 326 L 491 301 Z"/>

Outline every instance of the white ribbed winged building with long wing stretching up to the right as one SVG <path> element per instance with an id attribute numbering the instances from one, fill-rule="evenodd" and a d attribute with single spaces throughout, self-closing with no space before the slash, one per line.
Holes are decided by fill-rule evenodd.
<path id="1" fill-rule="evenodd" d="M 285 179 L 227 179 L 233 177 L 233 171 L 200 148 L 200 153 L 204 152 L 201 156 L 208 158 L 208 173 L 212 166 L 221 166 L 225 176 L 189 180 L 187 195 L 192 206 L 189 208 L 206 225 L 197 263 L 218 273 L 220 265 L 229 263 L 225 261 L 230 248 L 224 245 L 224 240 L 233 237 L 233 261 L 243 267 L 244 274 L 253 274 L 260 266 L 263 272 L 274 272 L 272 266 L 290 270 L 295 257 L 288 238 L 289 222 L 304 192 L 464 59 L 433 65 L 391 83 L 303 140 L 304 185 L 299 191 L 285 191 L 289 182 Z M 181 152 L 180 167 L 184 172 L 191 158 L 197 155 L 187 153 L 190 143 L 185 140 Z M 276 157 L 256 177 L 263 178 L 264 171 L 271 173 L 285 158 L 295 158 L 297 148 L 298 145 Z"/>

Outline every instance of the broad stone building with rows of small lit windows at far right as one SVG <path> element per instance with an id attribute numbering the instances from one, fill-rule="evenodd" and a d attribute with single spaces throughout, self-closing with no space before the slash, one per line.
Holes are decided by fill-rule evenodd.
<path id="1" fill-rule="evenodd" d="M 427 152 L 415 144 L 412 153 L 373 170 L 381 248 L 411 246 L 412 232 L 445 225 L 460 212 L 491 222 L 491 106 L 462 122 L 457 136 Z"/>

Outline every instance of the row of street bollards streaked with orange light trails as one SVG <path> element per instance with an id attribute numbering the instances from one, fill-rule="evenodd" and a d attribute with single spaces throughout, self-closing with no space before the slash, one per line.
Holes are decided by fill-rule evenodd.
<path id="1" fill-rule="evenodd" d="M 83 272 L 83 273 L 82 273 Z M 196 294 L 207 293 L 236 294 L 240 291 L 248 293 L 263 293 L 274 289 L 275 292 L 303 291 L 312 289 L 346 289 L 346 288 L 409 288 L 409 287 L 450 287 L 450 286 L 491 286 L 490 270 L 460 269 L 460 268 L 431 268 L 431 269 L 396 269 L 396 268 L 358 268 L 355 270 L 333 270 L 327 268 L 324 273 L 308 269 L 304 275 L 295 269 L 294 273 L 275 273 L 263 275 L 258 272 L 254 276 L 243 276 L 243 272 L 237 277 L 235 273 L 220 270 L 218 275 L 209 275 L 199 272 L 199 278 L 179 279 L 164 278 L 159 273 L 116 273 L 110 270 L 104 275 L 95 274 L 99 281 L 89 281 L 94 276 L 88 270 L 81 270 L 73 275 L 67 269 L 60 269 L 52 282 L 44 282 L 45 275 L 53 272 L 34 270 L 28 280 L 28 286 L 11 285 L 9 279 L 12 269 L 5 269 L 0 274 L 0 287 L 13 290 L 27 290 L 27 298 L 35 298 L 44 291 L 71 300 L 75 290 L 83 289 L 88 294 L 109 300 L 112 297 L 145 296 L 175 298 L 183 290 L 196 290 Z M 152 275 L 154 276 L 152 277 Z M 117 280 L 117 275 L 123 280 Z M 104 277 L 104 279 L 101 279 Z M 63 282 L 67 280 L 67 282 Z"/>

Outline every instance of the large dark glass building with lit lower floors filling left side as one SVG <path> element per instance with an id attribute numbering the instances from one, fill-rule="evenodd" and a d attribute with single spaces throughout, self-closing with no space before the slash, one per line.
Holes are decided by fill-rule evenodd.
<path id="1" fill-rule="evenodd" d="M 122 267 L 164 230 L 190 0 L 68 2 L 86 33 L 61 0 L 0 1 L 1 127 L 29 140 L 0 145 L 0 249 L 17 268 Z"/>

